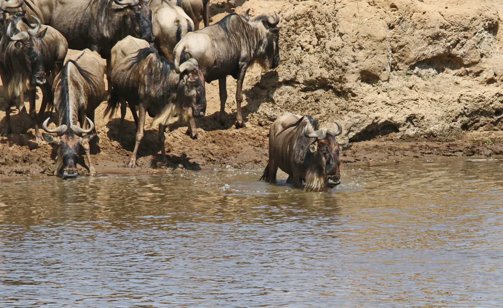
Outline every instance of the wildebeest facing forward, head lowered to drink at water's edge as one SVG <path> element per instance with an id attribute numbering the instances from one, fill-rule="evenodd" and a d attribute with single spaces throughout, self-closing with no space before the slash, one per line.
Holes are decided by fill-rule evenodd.
<path id="1" fill-rule="evenodd" d="M 54 105 L 58 116 L 58 126 L 49 129 L 45 120 L 42 127 L 45 131 L 57 133 L 57 136 L 44 133 L 44 139 L 49 143 L 58 144 L 56 169 L 63 179 L 77 176 L 78 146 L 82 145 L 89 162 L 89 173 L 96 174 L 91 162 L 89 141 L 97 132 L 93 123 L 96 107 L 103 101 L 105 95 L 105 63 L 96 52 L 85 49 L 69 57 L 61 72 L 56 76 L 52 87 Z M 86 119 L 89 128 L 85 129 Z M 77 125 L 80 122 L 80 126 Z M 82 135 L 86 133 L 87 135 Z"/>

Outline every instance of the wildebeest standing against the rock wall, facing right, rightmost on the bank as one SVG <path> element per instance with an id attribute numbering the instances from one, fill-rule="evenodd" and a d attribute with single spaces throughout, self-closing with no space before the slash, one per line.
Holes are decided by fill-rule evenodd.
<path id="1" fill-rule="evenodd" d="M 246 127 L 241 114 L 242 85 L 246 69 L 253 63 L 265 69 L 276 68 L 280 63 L 278 13 L 260 15 L 250 20 L 248 11 L 243 18 L 236 14 L 224 17 L 218 23 L 197 32 L 188 33 L 175 47 L 175 69 L 189 58 L 199 63 L 206 82 L 218 80 L 220 92 L 220 122 L 228 127 L 225 115 L 227 75 L 237 79 L 237 127 Z M 246 22 L 245 20 L 249 20 Z"/>

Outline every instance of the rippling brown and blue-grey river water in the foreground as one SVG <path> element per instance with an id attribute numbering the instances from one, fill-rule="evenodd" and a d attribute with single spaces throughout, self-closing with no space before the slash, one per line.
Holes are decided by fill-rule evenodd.
<path id="1" fill-rule="evenodd" d="M 501 307 L 503 162 L 0 182 L 0 307 Z"/>

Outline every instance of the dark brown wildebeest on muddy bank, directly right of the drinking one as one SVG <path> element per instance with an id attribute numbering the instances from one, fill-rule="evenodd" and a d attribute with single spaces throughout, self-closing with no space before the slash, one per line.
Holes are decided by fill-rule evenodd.
<path id="1" fill-rule="evenodd" d="M 105 114 L 112 114 L 119 98 L 138 106 L 136 143 L 128 167 L 136 165 L 136 153 L 143 138 L 145 113 L 155 117 L 152 127 L 158 126 L 162 159 L 166 161 L 164 149 L 164 127 L 171 119 L 181 114 L 190 123 L 188 131 L 198 137 L 195 118 L 206 113 L 206 90 L 204 77 L 194 59 L 189 59 L 174 71 L 174 64 L 159 56 L 155 47 L 146 41 L 126 37 L 112 49 L 112 87 L 114 92 L 108 101 Z M 119 130 L 122 131 L 124 114 Z"/>

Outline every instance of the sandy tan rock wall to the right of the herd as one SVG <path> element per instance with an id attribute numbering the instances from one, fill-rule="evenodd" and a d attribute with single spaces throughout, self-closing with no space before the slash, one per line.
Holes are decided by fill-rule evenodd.
<path id="1" fill-rule="evenodd" d="M 257 112 L 248 119 L 267 125 L 278 110 L 311 113 L 325 127 L 338 119 L 342 141 L 500 130 L 498 9 L 471 0 L 286 0 L 282 64 L 245 92 Z"/>

